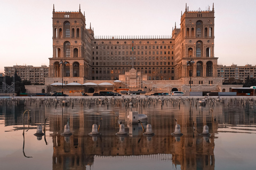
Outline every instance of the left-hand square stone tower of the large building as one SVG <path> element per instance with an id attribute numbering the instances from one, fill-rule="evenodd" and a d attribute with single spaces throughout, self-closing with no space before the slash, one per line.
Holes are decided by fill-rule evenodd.
<path id="1" fill-rule="evenodd" d="M 55 12 L 53 5 L 52 13 L 53 57 L 49 58 L 49 77 L 57 82 L 63 77 L 64 83 L 83 83 L 91 77 L 93 30 L 85 28 L 85 15 L 80 6 L 77 12 Z"/>

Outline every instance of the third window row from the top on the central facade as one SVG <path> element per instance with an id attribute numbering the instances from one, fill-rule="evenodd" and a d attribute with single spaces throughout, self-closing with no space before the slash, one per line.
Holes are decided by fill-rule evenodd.
<path id="1" fill-rule="evenodd" d="M 94 55 L 94 52 L 92 52 L 92 54 Z M 100 52 L 95 52 L 95 54 L 96 55 L 98 55 L 98 54 L 100 54 L 100 55 L 102 55 L 102 51 L 100 51 Z M 107 51 L 107 53 L 106 53 L 106 51 L 103 51 L 103 55 L 106 55 L 106 54 L 111 54 L 111 55 L 114 55 L 114 52 L 113 51 L 111 51 L 111 52 L 109 52 L 109 51 Z M 118 55 L 121 55 L 121 54 L 125 54 L 125 52 L 123 51 L 123 52 L 118 52 Z M 129 52 L 128 51 L 126 51 L 126 55 L 128 55 L 129 54 Z M 134 55 L 136 55 L 136 52 L 133 52 L 133 54 Z M 147 52 L 147 51 L 145 51 L 145 52 L 143 52 L 143 51 L 137 51 L 137 55 L 147 55 L 147 54 L 149 54 L 149 55 L 151 55 L 151 51 L 150 52 Z M 158 51 L 153 51 L 152 52 L 152 54 L 154 55 L 154 54 L 171 54 L 171 52 L 166 52 L 166 51 L 164 51 L 164 52 L 158 52 Z M 173 52 L 172 52 L 172 54 L 173 54 Z M 117 55 L 117 52 L 115 52 L 115 55 Z M 130 52 L 130 55 L 132 55 L 132 51 Z"/>

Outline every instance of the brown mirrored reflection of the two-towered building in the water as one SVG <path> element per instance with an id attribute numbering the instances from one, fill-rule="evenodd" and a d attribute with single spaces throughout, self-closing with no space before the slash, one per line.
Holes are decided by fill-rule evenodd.
<path id="1" fill-rule="evenodd" d="M 196 114 L 198 112 L 201 114 L 199 117 Z M 197 107 L 191 110 L 193 120 L 190 119 L 186 108 L 180 108 L 179 116 L 175 117 L 182 127 L 183 136 L 180 138 L 171 135 L 175 126 L 173 114 L 166 116 L 148 114 L 148 122 L 156 133 L 151 139 L 141 135 L 140 127 L 139 135 L 117 137 L 115 133 L 119 128 L 115 125 L 115 116 L 103 118 L 100 128 L 102 136 L 93 139 L 88 133 L 92 130 L 92 124 L 98 124 L 99 115 L 85 114 L 83 111 L 78 115 L 79 118 L 70 117 L 70 130 L 73 135 L 69 140 L 60 135 L 63 126 L 67 123 L 67 117 L 63 118 L 61 115 L 51 117 L 50 131 L 55 132 L 52 135 L 53 169 L 68 167 L 85 169 L 86 165 L 93 165 L 95 158 L 102 156 L 125 160 L 131 156 L 153 159 L 157 157 L 154 155 L 158 154 L 166 156 L 167 161 L 175 165 L 181 165 L 181 169 L 214 169 L 214 138 L 205 139 L 198 136 L 197 132 L 193 134 L 193 122 L 199 132 L 202 132 L 205 124 L 209 125 L 211 134 L 217 132 L 217 126 L 212 123 L 211 116 L 208 116 L 209 111 L 204 108 Z"/>

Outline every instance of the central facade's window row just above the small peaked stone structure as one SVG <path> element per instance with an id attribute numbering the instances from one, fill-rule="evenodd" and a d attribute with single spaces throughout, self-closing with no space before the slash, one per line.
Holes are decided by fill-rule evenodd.
<path id="1" fill-rule="evenodd" d="M 92 65 L 121 65 L 121 62 L 92 62 Z M 173 62 L 133 62 L 133 65 L 173 65 L 174 63 Z M 122 62 L 122 65 L 132 65 L 132 62 Z"/>

